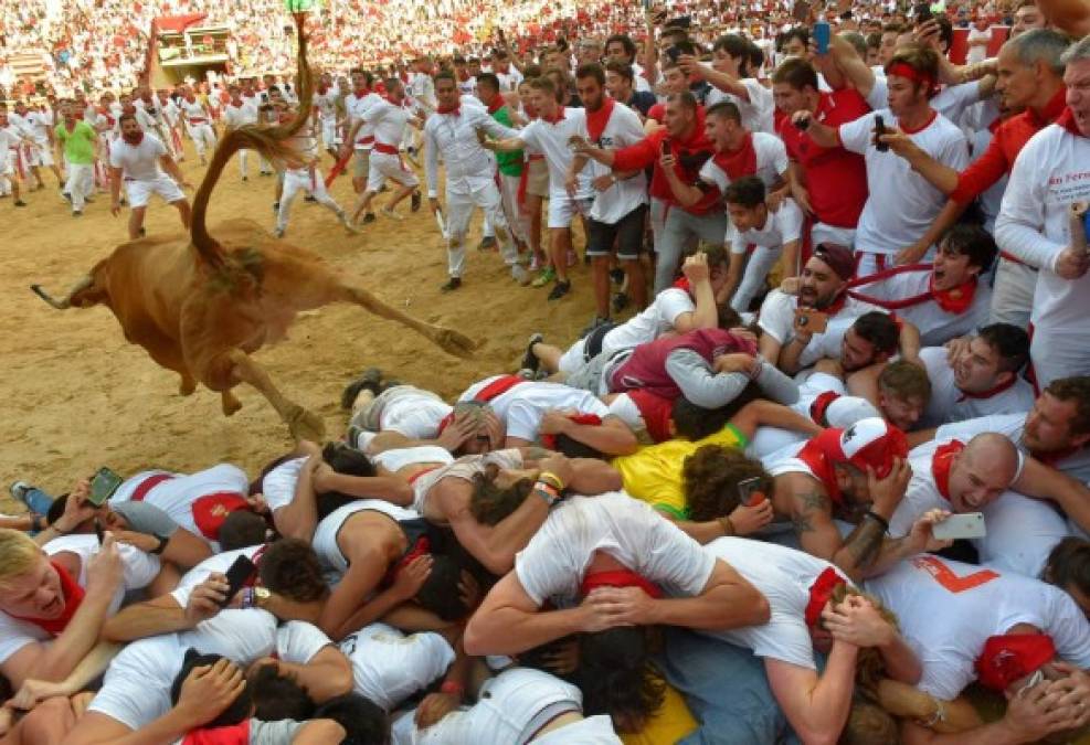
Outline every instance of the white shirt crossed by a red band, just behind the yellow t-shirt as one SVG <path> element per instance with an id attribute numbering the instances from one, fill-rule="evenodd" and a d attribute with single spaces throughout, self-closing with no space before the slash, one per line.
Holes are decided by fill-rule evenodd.
<path id="1" fill-rule="evenodd" d="M 479 391 L 498 377 L 501 376 L 494 375 L 474 383 L 466 389 L 458 401 L 473 401 Z M 573 409 L 579 414 L 594 414 L 603 419 L 610 415 L 610 407 L 593 393 L 563 383 L 527 381 L 488 403 L 496 416 L 507 424 L 508 437 L 531 441 L 538 438 L 541 417 L 548 411 Z"/>

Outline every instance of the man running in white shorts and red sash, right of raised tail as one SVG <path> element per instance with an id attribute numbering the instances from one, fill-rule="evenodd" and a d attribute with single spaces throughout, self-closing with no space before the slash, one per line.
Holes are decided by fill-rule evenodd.
<path id="1" fill-rule="evenodd" d="M 359 202 L 356 204 L 356 212 L 352 215 L 353 222 L 359 219 L 361 213 L 371 212 L 371 202 L 387 179 L 396 182 L 399 188 L 380 211 L 392 220 L 404 220 L 394 212 L 394 207 L 420 185 L 416 174 L 405 168 L 398 149 L 405 137 L 405 128 L 409 126 L 411 116 L 409 109 L 402 105 L 405 100 L 405 86 L 396 77 L 387 79 L 384 85 L 387 88 L 385 98 L 367 109 L 360 121 L 352 127 L 348 138 L 353 140 L 361 125 L 370 126 L 374 132 L 374 149 L 368 166 L 367 191 L 360 195 Z"/>

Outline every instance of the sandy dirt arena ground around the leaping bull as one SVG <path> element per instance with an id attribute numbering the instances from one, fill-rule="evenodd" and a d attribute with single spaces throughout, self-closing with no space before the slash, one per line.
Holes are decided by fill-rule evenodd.
<path id="1" fill-rule="evenodd" d="M 189 152 L 182 170 L 197 184 L 204 169 Z M 236 162 L 225 170 L 209 210 L 213 235 L 216 223 L 229 216 L 248 216 L 272 230 L 274 179 L 258 178 L 251 163 L 248 183 L 241 181 Z M 328 169 L 328 159 L 324 166 Z M 31 294 L 33 283 L 63 292 L 127 235 L 126 214 L 109 214 L 107 194 L 97 195 L 83 217 L 72 217 L 52 173 L 45 178 L 46 189 L 27 194 L 24 209 L 0 200 L 3 486 L 23 479 L 59 493 L 104 465 L 124 475 L 148 467 L 190 471 L 230 461 L 255 473 L 285 451 L 292 444 L 287 429 L 256 391 L 236 389 L 243 408 L 224 417 L 219 395 L 207 389 L 181 397 L 178 376 L 127 343 L 106 308 L 62 312 Z M 332 194 L 341 205 L 351 205 L 347 177 L 338 179 Z M 379 203 L 384 199 L 380 195 Z M 288 397 L 324 417 L 329 437 L 339 437 L 347 424 L 339 407 L 341 390 L 364 368 L 379 366 L 451 398 L 475 380 L 514 371 L 531 332 L 568 343 L 593 316 L 591 278 L 583 266 L 572 270 L 573 292 L 548 302 L 548 287 L 519 287 L 497 253 L 473 248 L 462 289 L 440 292 L 446 252 L 426 203 L 416 214 L 409 213 L 408 200 L 399 210 L 404 222 L 380 215 L 364 226 L 363 235 L 352 236 L 332 214 L 300 196 L 286 240 L 358 278 L 388 302 L 458 329 L 480 347 L 474 360 L 459 360 L 354 306 L 330 306 L 300 317 L 288 340 L 261 350 L 255 359 Z M 149 207 L 146 225 L 149 234 L 181 233 L 177 212 L 160 201 Z M 479 232 L 478 216 L 470 246 Z M 580 237 L 576 246 L 582 246 Z M 7 498 L 6 488 L 0 496 Z M 0 501 L 0 511 L 19 510 Z"/>

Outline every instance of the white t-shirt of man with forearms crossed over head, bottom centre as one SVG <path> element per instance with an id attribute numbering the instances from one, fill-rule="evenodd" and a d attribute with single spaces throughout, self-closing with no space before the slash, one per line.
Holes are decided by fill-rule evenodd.
<path id="1" fill-rule="evenodd" d="M 579 586 L 595 551 L 604 551 L 667 595 L 703 592 L 716 557 L 669 520 L 622 491 L 572 497 L 552 509 L 526 549 L 515 573 L 539 606 L 578 600 Z"/>

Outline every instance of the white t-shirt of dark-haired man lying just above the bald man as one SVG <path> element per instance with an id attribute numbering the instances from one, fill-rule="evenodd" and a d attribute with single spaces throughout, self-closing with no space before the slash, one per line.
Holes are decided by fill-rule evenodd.
<path id="1" fill-rule="evenodd" d="M 967 395 L 954 383 L 954 371 L 946 362 L 944 347 L 920 350 L 920 361 L 931 380 L 931 400 L 921 417 L 921 427 L 936 427 L 991 414 L 1017 414 L 1034 406 L 1034 387 L 1020 375 L 1008 389 L 990 396 Z"/>

